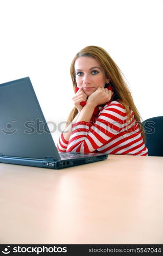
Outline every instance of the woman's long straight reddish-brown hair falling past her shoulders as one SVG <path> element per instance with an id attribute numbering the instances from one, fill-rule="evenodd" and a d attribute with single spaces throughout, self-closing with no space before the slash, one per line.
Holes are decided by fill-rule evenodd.
<path id="1" fill-rule="evenodd" d="M 77 58 L 84 57 L 84 56 L 95 58 L 100 62 L 101 66 L 105 71 L 106 77 L 110 79 L 110 83 L 114 88 L 114 94 L 111 100 L 118 100 L 118 99 L 121 100 L 121 103 L 124 105 L 127 111 L 128 121 L 130 120 L 130 115 L 131 115 L 130 109 L 133 111 L 135 120 L 138 123 L 139 128 L 141 129 L 142 135 L 145 139 L 143 126 L 141 124 L 141 117 L 133 102 L 131 93 L 129 91 L 127 83 L 125 82 L 124 75 L 119 69 L 119 67 L 117 66 L 117 64 L 113 61 L 113 59 L 109 56 L 109 54 L 103 48 L 98 46 L 87 46 L 83 48 L 80 52 L 78 52 L 74 57 L 71 64 L 71 68 L 70 68 L 74 92 L 76 92 L 75 88 L 77 87 L 75 67 L 74 67 L 75 61 L 77 60 Z M 78 114 L 78 110 L 76 107 L 74 107 L 74 109 L 71 111 L 71 113 L 68 116 L 66 126 L 68 126 L 74 120 L 77 114 Z"/>

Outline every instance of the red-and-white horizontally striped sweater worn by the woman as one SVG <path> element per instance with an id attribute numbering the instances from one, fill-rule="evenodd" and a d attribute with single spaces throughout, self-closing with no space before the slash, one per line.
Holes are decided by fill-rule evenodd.
<path id="1" fill-rule="evenodd" d="M 148 154 L 133 112 L 131 111 L 130 122 L 127 122 L 126 109 L 118 101 L 107 103 L 100 110 L 95 123 L 74 123 L 69 141 L 64 139 L 62 133 L 57 146 L 60 152 Z"/>

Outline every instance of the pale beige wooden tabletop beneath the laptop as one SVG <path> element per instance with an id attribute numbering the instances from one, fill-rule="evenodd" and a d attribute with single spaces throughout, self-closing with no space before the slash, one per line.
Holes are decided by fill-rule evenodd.
<path id="1" fill-rule="evenodd" d="M 0 243 L 162 244 L 163 157 L 52 170 L 0 164 Z"/>

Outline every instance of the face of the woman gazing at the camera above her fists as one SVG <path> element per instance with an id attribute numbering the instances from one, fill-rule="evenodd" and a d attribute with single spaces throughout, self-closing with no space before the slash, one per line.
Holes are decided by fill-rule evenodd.
<path id="1" fill-rule="evenodd" d="M 98 87 L 104 87 L 110 81 L 106 78 L 100 62 L 92 57 L 79 57 L 75 61 L 77 87 L 82 88 L 87 96 L 95 92 Z"/>

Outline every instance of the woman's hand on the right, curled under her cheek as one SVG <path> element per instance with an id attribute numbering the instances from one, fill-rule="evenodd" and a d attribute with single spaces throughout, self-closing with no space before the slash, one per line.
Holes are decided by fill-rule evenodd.
<path id="1" fill-rule="evenodd" d="M 98 89 L 88 97 L 87 103 L 94 105 L 95 107 L 97 105 L 105 104 L 110 101 L 112 94 L 111 90 L 98 87 Z"/>

